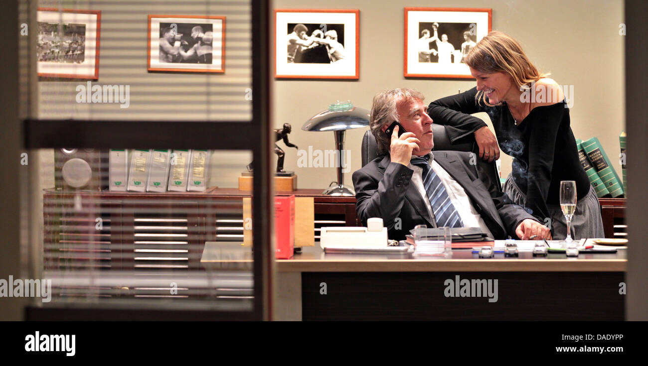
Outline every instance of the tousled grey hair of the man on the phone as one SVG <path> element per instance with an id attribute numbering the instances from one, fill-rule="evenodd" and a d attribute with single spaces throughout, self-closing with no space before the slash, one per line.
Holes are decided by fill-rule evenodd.
<path id="1" fill-rule="evenodd" d="M 389 126 L 399 120 L 398 103 L 412 99 L 418 99 L 422 102 L 425 100 L 425 96 L 419 91 L 408 87 L 380 91 L 374 95 L 373 103 L 371 104 L 371 115 L 369 117 L 369 129 L 376 138 L 378 151 L 381 154 L 388 153 L 389 145 L 391 145 L 391 137 L 382 132 L 382 127 L 385 125 Z"/>

